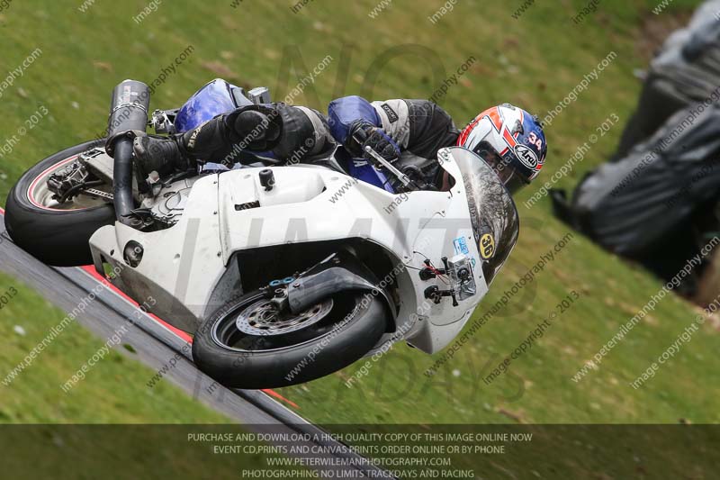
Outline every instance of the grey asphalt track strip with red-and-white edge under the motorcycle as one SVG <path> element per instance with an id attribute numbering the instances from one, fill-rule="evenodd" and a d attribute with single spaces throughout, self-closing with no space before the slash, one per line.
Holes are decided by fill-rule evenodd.
<path id="1" fill-rule="evenodd" d="M 204 375 L 193 364 L 189 348 L 192 338 L 189 335 L 174 329 L 156 316 L 141 311 L 137 303 L 105 282 L 94 272 L 93 267 L 48 267 L 20 249 L 5 231 L 2 208 L 0 208 L 0 235 L 4 237 L 2 239 L 4 241 L 0 241 L 0 270 L 30 285 L 50 303 L 65 312 L 71 312 L 81 299 L 96 289 L 95 299 L 87 303 L 85 311 L 77 317 L 76 322 L 105 340 L 111 338 L 121 326 L 125 325 L 127 333 L 123 334 L 122 343 L 130 345 L 135 352 L 130 353 L 123 348 L 116 350 L 130 358 L 139 359 L 157 371 L 166 367 L 166 373 L 160 381 L 172 382 L 193 398 L 238 421 L 249 431 L 261 433 L 272 430 L 274 433 L 303 433 L 311 436 L 325 433 L 285 406 L 288 405 L 294 410 L 300 408 L 275 391 L 228 389 Z M 98 288 L 100 284 L 103 286 Z M 130 320 L 133 323 L 128 326 Z M 168 368 L 171 361 L 174 365 Z M 365 460 L 350 450 L 342 452 L 342 444 L 332 440 L 305 443 L 328 448 L 332 453 L 298 457 Z M 280 444 L 282 443 L 278 443 Z M 351 469 L 356 475 L 391 478 L 369 461 L 360 463 L 363 465 L 319 466 L 317 469 L 334 471 L 335 477 L 340 477 L 338 474 L 341 472 L 347 475 L 348 469 Z"/>

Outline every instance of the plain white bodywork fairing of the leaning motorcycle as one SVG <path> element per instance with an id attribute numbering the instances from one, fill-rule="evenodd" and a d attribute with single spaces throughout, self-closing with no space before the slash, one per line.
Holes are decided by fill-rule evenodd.
<path id="1" fill-rule="evenodd" d="M 139 303 L 154 298 L 154 313 L 194 331 L 197 322 L 242 292 L 236 252 L 288 242 L 364 238 L 381 246 L 398 266 L 397 329 L 407 332 L 405 339 L 418 349 L 436 352 L 455 338 L 488 291 L 464 182 L 452 155 L 443 168 L 456 179 L 451 191 L 407 195 L 392 195 L 313 166 L 272 168 L 275 186 L 270 191 L 260 185 L 262 168 L 199 177 L 182 217 L 171 228 L 143 233 L 116 223 L 95 232 L 90 241 L 95 266 L 111 264 L 120 272 L 113 282 L 121 290 Z M 123 260 L 130 240 L 144 249 L 134 268 Z M 426 301 L 428 286 L 447 285 L 437 278 L 419 278 L 423 260 L 427 256 L 442 267 L 440 258 L 455 257 L 461 244 L 475 266 L 476 293 L 456 307 L 449 297 L 439 304 Z"/>

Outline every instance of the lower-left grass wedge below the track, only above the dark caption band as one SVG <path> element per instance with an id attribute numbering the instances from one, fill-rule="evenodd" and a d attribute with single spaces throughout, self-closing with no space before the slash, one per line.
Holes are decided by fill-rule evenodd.
<path id="1" fill-rule="evenodd" d="M 0 273 L 0 293 L 17 291 L 0 310 L 2 379 L 57 326 L 66 314 L 27 285 Z M 22 333 L 18 333 L 16 331 Z M 76 322 L 70 323 L 46 349 L 2 385 L 0 421 L 4 423 L 227 423 L 220 413 L 193 401 L 168 382 L 146 383 L 155 373 L 115 350 L 89 369 L 67 392 L 61 385 L 103 347 Z"/>

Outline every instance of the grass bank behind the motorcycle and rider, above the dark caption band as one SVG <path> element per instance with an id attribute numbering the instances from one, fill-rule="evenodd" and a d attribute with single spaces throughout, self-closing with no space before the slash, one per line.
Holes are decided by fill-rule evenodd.
<path id="1" fill-rule="evenodd" d="M 514 20 L 519 0 L 461 0 L 433 25 L 427 17 L 438 5 L 428 0 L 396 0 L 375 20 L 368 17 L 374 1 L 334 2 L 330 8 L 318 0 L 298 14 L 291 11 L 293 4 L 166 4 L 136 25 L 131 18 L 146 5 L 144 0 L 122 5 L 98 0 L 86 14 L 61 3 L 14 3 L 0 19 L 0 72 L 18 66 L 35 46 L 43 54 L 0 99 L 5 113 L 0 132 L 16 131 L 40 105 L 50 114 L 12 154 L 0 158 L 0 195 L 40 158 L 102 131 L 112 86 L 127 77 L 151 82 L 188 45 L 192 55 L 158 86 L 154 106 L 182 104 L 213 77 L 242 86 L 268 85 L 275 98 L 283 98 L 327 55 L 333 58 L 329 68 L 294 103 L 324 110 L 338 95 L 428 98 L 474 56 L 478 61 L 471 72 L 440 100 L 458 124 L 502 102 L 544 116 L 615 51 L 617 59 L 546 131 L 549 154 L 542 176 L 548 179 L 602 122 L 613 114 L 620 118 L 558 184 L 572 188 L 609 157 L 635 108 L 640 85 L 632 72 L 648 61 L 644 23 L 671 23 L 676 14 L 687 17 L 695 5 L 678 0 L 655 17 L 649 13 L 654 2 L 608 1 L 576 25 L 571 19 L 584 2 L 538 2 Z M 398 45 L 406 47 L 392 50 Z M 530 210 L 522 206 L 533 193 L 530 187 L 518 198 L 523 222 L 518 248 L 476 315 L 497 302 L 567 232 L 552 218 L 546 198 Z M 709 323 L 646 385 L 637 390 L 628 385 L 693 321 L 697 312 L 679 298 L 663 300 L 598 371 L 580 383 L 571 380 L 660 287 L 643 270 L 576 236 L 525 296 L 498 313 L 436 376 L 428 379 L 422 372 L 437 357 L 398 345 L 351 390 L 343 384 L 360 364 L 283 394 L 320 423 L 717 422 L 720 387 L 712 380 L 720 361 L 714 355 L 717 331 Z M 484 385 L 488 366 L 517 348 L 572 289 L 581 299 L 571 311 L 512 364 L 509 374 Z M 15 304 L 20 308 L 20 302 Z M 11 412 L 11 419 L 28 414 L 18 406 Z M 82 412 L 76 415 L 85 418 Z M 102 412 L 85 415 L 103 418 Z"/>

